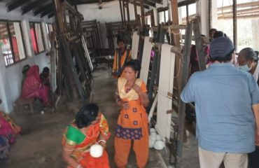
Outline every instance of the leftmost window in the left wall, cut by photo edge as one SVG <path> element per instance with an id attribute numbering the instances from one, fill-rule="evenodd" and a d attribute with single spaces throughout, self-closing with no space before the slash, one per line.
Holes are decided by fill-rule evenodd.
<path id="1" fill-rule="evenodd" d="M 20 22 L 0 22 L 0 45 L 6 66 L 26 58 Z"/>

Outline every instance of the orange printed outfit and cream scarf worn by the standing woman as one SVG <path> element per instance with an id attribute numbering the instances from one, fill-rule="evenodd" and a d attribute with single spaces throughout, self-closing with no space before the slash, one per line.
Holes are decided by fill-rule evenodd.
<path id="1" fill-rule="evenodd" d="M 139 94 L 133 89 L 125 90 L 126 78 L 118 79 L 118 91 L 120 99 L 129 102 L 130 109 L 121 110 L 118 118 L 118 126 L 115 133 L 115 162 L 117 167 L 126 167 L 130 153 L 131 142 L 136 154 L 138 167 L 145 167 L 148 161 L 148 118 L 146 109 L 141 104 Z M 135 82 L 141 87 L 142 92 L 147 92 L 146 85 L 141 79 Z"/>

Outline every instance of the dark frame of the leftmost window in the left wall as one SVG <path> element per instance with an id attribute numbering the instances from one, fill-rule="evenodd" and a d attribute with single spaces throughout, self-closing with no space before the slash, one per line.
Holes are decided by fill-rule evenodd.
<path id="1" fill-rule="evenodd" d="M 28 56 L 27 56 L 27 50 L 26 50 L 26 47 L 25 47 L 25 37 L 24 37 L 24 34 L 23 34 L 23 29 L 22 29 L 22 23 L 21 23 L 21 21 L 20 21 L 20 20 L 0 20 L 0 22 L 6 22 L 8 40 L 10 41 L 10 51 L 11 51 L 11 54 L 13 55 L 13 63 L 6 65 L 6 62 L 5 62 L 6 67 L 12 66 L 12 65 L 14 65 L 14 64 L 17 64 L 17 63 L 22 62 L 22 61 L 24 61 L 25 59 L 27 59 Z M 21 32 L 21 36 L 22 36 L 22 46 L 23 46 L 23 50 L 24 50 L 24 52 L 25 52 L 25 58 L 19 59 L 18 61 L 15 61 L 15 55 L 14 55 L 14 51 L 13 51 L 12 36 L 10 35 L 10 25 L 9 25 L 10 22 L 18 22 L 18 23 L 19 23 L 20 32 Z M 19 55 L 19 56 L 20 56 L 20 55 Z M 3 56 L 3 57 L 4 57 L 4 56 Z"/>

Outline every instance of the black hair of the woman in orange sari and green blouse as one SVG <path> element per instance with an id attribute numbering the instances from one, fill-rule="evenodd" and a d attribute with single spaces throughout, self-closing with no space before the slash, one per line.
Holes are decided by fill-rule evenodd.
<path id="1" fill-rule="evenodd" d="M 97 104 L 87 104 L 76 113 L 76 127 L 83 128 L 91 125 L 99 113 Z"/>

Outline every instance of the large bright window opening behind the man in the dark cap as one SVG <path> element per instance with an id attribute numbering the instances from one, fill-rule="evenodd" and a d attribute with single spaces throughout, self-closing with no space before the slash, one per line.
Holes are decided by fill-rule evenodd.
<path id="1" fill-rule="evenodd" d="M 258 0 L 238 0 L 237 1 L 237 27 L 233 26 L 233 1 L 219 0 L 218 17 L 215 28 L 223 31 L 233 41 L 234 30 L 237 45 L 236 51 L 250 47 L 259 50 L 259 1 Z M 214 18 L 212 18 L 214 19 Z"/>

